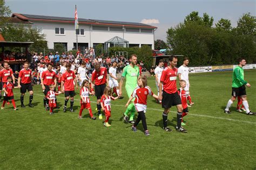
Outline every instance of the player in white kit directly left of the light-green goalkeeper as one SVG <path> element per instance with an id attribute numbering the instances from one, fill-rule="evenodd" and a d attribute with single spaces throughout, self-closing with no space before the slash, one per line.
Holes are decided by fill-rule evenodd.
<path id="1" fill-rule="evenodd" d="M 119 85 L 118 85 L 118 78 L 117 78 L 117 62 L 113 62 L 112 67 L 109 68 L 109 86 L 113 91 L 119 96 Z M 115 91 L 116 89 L 116 91 Z M 122 99 L 120 97 L 119 99 Z"/>

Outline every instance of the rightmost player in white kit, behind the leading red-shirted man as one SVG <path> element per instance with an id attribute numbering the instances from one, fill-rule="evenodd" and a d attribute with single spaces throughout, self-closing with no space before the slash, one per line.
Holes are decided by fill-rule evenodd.
<path id="1" fill-rule="evenodd" d="M 185 80 L 186 81 L 186 87 L 185 87 L 185 91 L 186 91 L 186 94 L 187 94 L 187 100 L 190 101 L 190 106 L 192 106 L 194 103 L 192 102 L 191 100 L 191 97 L 190 97 L 190 81 L 188 80 L 188 58 L 185 57 L 183 59 L 183 65 L 181 65 L 178 69 L 178 74 L 179 74 L 179 79 L 180 80 Z"/>

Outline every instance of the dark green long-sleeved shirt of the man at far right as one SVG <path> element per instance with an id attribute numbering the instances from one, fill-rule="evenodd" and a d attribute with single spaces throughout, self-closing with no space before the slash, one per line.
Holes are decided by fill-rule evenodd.
<path id="1" fill-rule="evenodd" d="M 247 84 L 247 82 L 244 80 L 244 69 L 236 66 L 233 70 L 232 87 L 241 87 L 244 84 Z"/>

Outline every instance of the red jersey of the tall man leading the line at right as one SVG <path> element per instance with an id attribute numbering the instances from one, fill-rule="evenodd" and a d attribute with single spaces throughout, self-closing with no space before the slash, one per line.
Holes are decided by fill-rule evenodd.
<path id="1" fill-rule="evenodd" d="M 173 94 L 177 92 L 176 79 L 177 79 L 178 69 L 174 67 L 173 69 L 169 69 L 166 67 L 162 74 L 160 81 L 163 81 L 164 91 L 169 94 Z"/>

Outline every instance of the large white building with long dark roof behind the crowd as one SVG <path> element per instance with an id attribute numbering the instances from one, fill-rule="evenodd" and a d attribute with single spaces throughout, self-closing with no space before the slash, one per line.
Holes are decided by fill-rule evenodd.
<path id="1" fill-rule="evenodd" d="M 49 49 L 54 44 L 62 43 L 66 50 L 76 48 L 75 19 L 66 17 L 28 15 L 13 13 L 12 17 L 29 22 L 33 28 L 45 35 Z M 154 49 L 155 26 L 142 23 L 103 21 L 97 19 L 78 18 L 78 47 L 95 47 L 118 36 L 129 41 L 129 46 L 149 45 Z"/>

